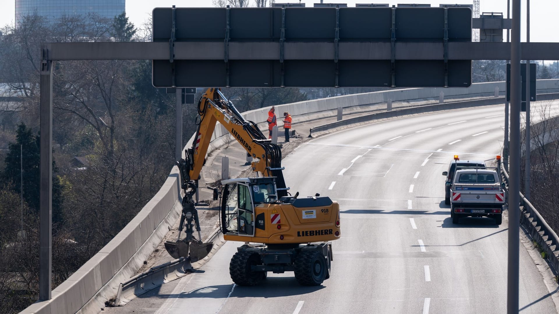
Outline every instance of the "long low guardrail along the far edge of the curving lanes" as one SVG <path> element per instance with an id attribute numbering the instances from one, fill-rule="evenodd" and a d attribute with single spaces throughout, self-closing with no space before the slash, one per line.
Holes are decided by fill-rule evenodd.
<path id="1" fill-rule="evenodd" d="M 559 99 L 559 93 L 538 94 L 538 101 L 550 100 L 550 99 Z M 325 123 L 323 125 L 311 127 L 309 130 L 309 137 L 312 137 L 313 132 L 316 134 L 317 132 L 337 129 L 338 127 L 352 125 L 355 123 L 367 122 L 376 119 L 391 118 L 391 117 L 404 116 L 404 115 L 413 115 L 414 113 L 425 113 L 430 111 L 461 109 L 461 108 L 477 107 L 477 106 L 491 106 L 493 104 L 504 103 L 504 101 L 505 101 L 505 97 L 501 96 L 501 97 L 491 97 L 491 98 L 484 98 L 484 99 L 475 99 L 472 101 L 457 101 L 457 102 L 427 104 L 424 106 L 395 109 L 395 110 L 385 111 L 385 112 L 376 112 L 376 113 L 371 113 L 370 115 L 342 119 L 340 121 L 334 121 L 330 123 Z"/>

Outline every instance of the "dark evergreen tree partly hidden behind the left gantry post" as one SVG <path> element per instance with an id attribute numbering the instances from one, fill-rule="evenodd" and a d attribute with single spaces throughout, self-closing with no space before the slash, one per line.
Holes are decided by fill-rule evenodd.
<path id="1" fill-rule="evenodd" d="M 39 212 L 39 166 L 40 166 L 40 136 L 34 136 L 31 129 L 27 129 L 23 122 L 17 127 L 16 142 L 8 145 L 9 151 L 4 162 L 6 168 L 2 173 L 3 179 L 13 185 L 16 193 L 21 193 L 21 161 L 23 161 L 23 199 L 32 210 Z M 22 147 L 20 145 L 23 145 Z M 20 156 L 20 150 L 23 156 Z M 53 157 L 53 173 L 56 163 Z M 53 223 L 63 221 L 61 211 L 63 197 L 60 178 L 53 175 Z"/>

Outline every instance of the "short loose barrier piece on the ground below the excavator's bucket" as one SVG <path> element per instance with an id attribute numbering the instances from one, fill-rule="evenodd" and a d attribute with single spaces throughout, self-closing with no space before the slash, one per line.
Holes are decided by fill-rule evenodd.
<path id="1" fill-rule="evenodd" d="M 146 272 L 135 275 L 119 285 L 116 293 L 115 306 L 124 306 L 132 299 L 141 296 L 155 287 L 183 277 L 191 270 L 192 266 L 183 257 L 168 261 L 150 268 Z"/>

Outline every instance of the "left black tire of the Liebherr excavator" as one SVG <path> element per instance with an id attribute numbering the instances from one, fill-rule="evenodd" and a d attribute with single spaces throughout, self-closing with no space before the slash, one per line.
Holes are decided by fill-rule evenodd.
<path id="1" fill-rule="evenodd" d="M 264 278 L 266 273 L 253 272 L 252 265 L 260 264 L 260 256 L 254 252 L 237 252 L 229 263 L 229 274 L 235 284 L 239 286 L 256 286 Z"/>

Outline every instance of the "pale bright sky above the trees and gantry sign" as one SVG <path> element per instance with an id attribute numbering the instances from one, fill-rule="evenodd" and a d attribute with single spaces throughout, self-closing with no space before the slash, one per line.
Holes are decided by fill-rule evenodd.
<path id="1" fill-rule="evenodd" d="M 359 1 L 357 3 L 371 3 L 371 0 Z M 506 1 L 507 0 L 481 0 L 480 12 L 503 12 L 506 17 Z M 254 6 L 254 0 L 250 0 Z M 298 0 L 276 0 L 276 3 L 282 2 L 298 2 Z M 306 7 L 312 7 L 313 3 L 318 3 L 319 0 L 302 0 Z M 348 7 L 355 6 L 356 1 L 330 1 L 324 0 L 324 3 L 347 3 Z M 430 3 L 433 7 L 438 7 L 440 3 L 464 3 L 471 4 L 472 0 L 449 0 L 441 2 L 422 1 L 422 0 L 380 0 L 375 3 Z M 126 13 L 134 25 L 139 26 L 144 23 L 155 7 L 171 7 L 173 4 L 177 7 L 212 7 L 211 0 L 126 0 Z M 15 16 L 15 0 L 0 0 L 2 10 L 0 10 L 0 26 L 7 24 L 13 25 Z M 521 40 L 526 39 L 526 0 L 522 0 L 522 37 Z M 512 12 L 511 12 L 512 13 Z M 532 42 L 559 42 L 559 1 L 558 0 L 532 0 L 530 2 L 530 41 Z M 506 31 L 503 33 L 503 38 L 506 41 Z"/>

